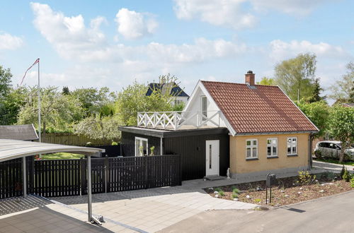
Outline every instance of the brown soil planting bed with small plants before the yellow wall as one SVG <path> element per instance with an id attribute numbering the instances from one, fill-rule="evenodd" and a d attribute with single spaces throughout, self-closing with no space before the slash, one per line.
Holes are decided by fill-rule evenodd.
<path id="1" fill-rule="evenodd" d="M 272 188 L 272 203 L 269 204 L 268 200 L 268 205 L 289 205 L 351 190 L 354 188 L 350 182 L 331 172 L 312 176 L 309 183 L 302 183 L 299 177 L 282 178 L 278 179 L 278 186 Z M 265 181 L 212 187 L 205 191 L 214 198 L 265 205 Z"/>

